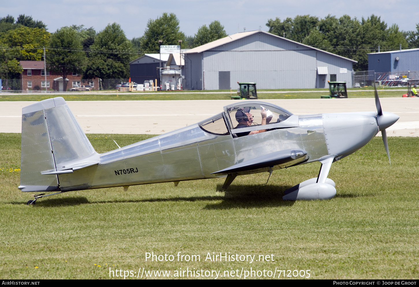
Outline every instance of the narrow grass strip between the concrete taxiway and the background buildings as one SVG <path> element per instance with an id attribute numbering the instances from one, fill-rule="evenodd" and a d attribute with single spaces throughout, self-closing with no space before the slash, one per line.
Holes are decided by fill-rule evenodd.
<path id="1" fill-rule="evenodd" d="M 296 89 L 295 89 L 296 90 Z M 307 89 L 305 89 L 307 90 Z M 309 89 L 313 90 L 313 89 Z M 320 90 L 320 89 L 318 89 Z M 290 90 L 292 91 L 292 89 Z M 230 91 L 225 91 L 225 93 L 219 93 L 217 91 L 203 91 L 209 92 L 209 94 L 200 94 L 194 93 L 194 91 L 184 91 L 182 93 L 161 93 L 161 94 L 147 94 L 147 93 L 118 93 L 116 94 L 97 94 L 97 93 L 67 93 L 67 94 L 58 94 L 58 93 L 39 93 L 31 95 L 22 95 L 19 93 L 2 93 L 0 94 L 0 101 L 41 101 L 47 98 L 59 97 L 62 96 L 66 101 L 162 101 L 162 100 L 230 100 Z M 214 93 L 210 93 L 214 92 Z M 215 93 L 216 92 L 216 93 Z M 380 98 L 385 97 L 401 97 L 406 91 L 401 90 L 391 90 L 389 88 L 385 90 L 378 89 L 378 96 Z M 258 98 L 261 100 L 266 99 L 289 99 L 289 98 L 320 98 L 321 95 L 327 95 L 328 90 L 324 90 L 324 93 L 318 92 L 308 92 L 308 93 L 298 93 L 293 91 L 292 93 L 279 93 L 278 91 L 272 91 L 272 93 L 258 93 Z M 235 91 L 233 91 L 235 95 Z M 348 92 L 348 98 L 373 98 L 374 91 L 368 88 L 354 89 Z"/>

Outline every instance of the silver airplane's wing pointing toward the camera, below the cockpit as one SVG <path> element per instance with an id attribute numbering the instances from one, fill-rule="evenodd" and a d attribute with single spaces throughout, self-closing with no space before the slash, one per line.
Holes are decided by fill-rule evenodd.
<path id="1" fill-rule="evenodd" d="M 274 153 L 261 155 L 250 160 L 224 168 L 211 174 L 222 175 L 234 173 L 237 175 L 259 173 L 279 168 L 289 167 L 308 160 L 307 152 L 299 149 L 279 150 Z"/>

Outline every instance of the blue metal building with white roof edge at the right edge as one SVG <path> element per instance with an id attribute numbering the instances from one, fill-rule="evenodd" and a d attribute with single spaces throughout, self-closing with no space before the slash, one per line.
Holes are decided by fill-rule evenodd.
<path id="1" fill-rule="evenodd" d="M 419 49 L 370 53 L 368 70 L 376 73 L 419 71 Z"/>

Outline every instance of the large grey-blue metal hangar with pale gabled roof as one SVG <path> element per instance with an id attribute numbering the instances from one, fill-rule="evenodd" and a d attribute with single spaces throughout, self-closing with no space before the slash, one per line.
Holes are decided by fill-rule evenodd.
<path id="1" fill-rule="evenodd" d="M 227 36 L 184 53 L 183 86 L 191 90 L 325 88 L 328 80 L 352 87 L 352 59 L 265 31 Z"/>

